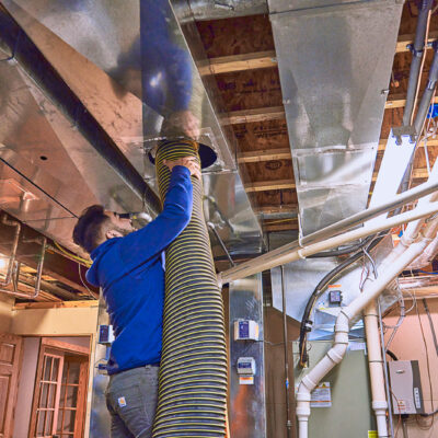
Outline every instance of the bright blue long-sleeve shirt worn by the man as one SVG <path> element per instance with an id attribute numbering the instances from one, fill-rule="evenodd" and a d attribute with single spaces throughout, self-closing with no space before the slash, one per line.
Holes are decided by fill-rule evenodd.
<path id="1" fill-rule="evenodd" d="M 105 241 L 91 253 L 93 265 L 87 279 L 102 288 L 115 334 L 110 374 L 160 362 L 163 251 L 191 220 L 192 193 L 188 169 L 173 168 L 163 211 L 157 219 L 124 238 Z"/>

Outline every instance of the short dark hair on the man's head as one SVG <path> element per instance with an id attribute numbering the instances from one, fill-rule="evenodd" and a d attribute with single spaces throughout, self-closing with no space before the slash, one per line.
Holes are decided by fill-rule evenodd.
<path id="1" fill-rule="evenodd" d="M 110 222 L 103 206 L 93 205 L 85 208 L 74 227 L 73 242 L 90 254 L 105 239 L 103 226 Z"/>

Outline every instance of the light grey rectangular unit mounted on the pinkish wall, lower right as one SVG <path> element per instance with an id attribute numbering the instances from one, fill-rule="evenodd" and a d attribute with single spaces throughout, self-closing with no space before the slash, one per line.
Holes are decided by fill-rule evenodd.
<path id="1" fill-rule="evenodd" d="M 388 368 L 394 414 L 423 414 L 418 360 L 393 360 L 388 362 Z"/>

